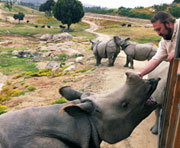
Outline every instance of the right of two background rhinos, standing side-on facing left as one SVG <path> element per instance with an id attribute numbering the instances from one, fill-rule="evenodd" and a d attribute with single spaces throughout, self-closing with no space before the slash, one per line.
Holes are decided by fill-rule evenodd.
<path id="1" fill-rule="evenodd" d="M 131 42 L 129 39 L 121 39 L 119 36 L 114 37 L 115 42 L 122 47 L 122 50 L 127 55 L 124 67 L 128 67 L 130 63 L 130 68 L 134 69 L 133 59 L 138 61 L 150 60 L 158 49 L 153 43 L 139 44 Z"/>

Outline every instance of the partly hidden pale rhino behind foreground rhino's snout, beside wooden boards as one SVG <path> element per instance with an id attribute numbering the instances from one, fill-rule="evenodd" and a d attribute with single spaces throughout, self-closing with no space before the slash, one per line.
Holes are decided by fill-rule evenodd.
<path id="1" fill-rule="evenodd" d="M 162 62 L 154 71 L 152 71 L 151 73 L 148 74 L 149 78 L 153 78 L 154 76 L 158 76 L 161 78 L 161 81 L 159 82 L 157 89 L 152 94 L 152 97 L 159 104 L 159 106 L 155 110 L 156 121 L 151 128 L 151 132 L 153 134 L 158 134 L 159 112 L 160 112 L 160 109 L 164 102 L 164 95 L 165 95 L 164 93 L 165 93 L 165 89 L 166 89 L 168 70 L 169 70 L 169 62 Z"/>

